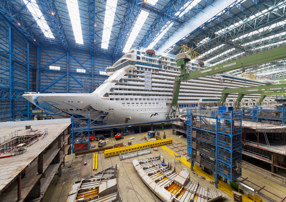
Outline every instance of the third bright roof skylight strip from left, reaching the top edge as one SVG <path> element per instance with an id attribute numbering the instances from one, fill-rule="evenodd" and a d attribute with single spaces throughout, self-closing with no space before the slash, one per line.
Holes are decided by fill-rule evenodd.
<path id="1" fill-rule="evenodd" d="M 104 15 L 104 25 L 102 33 L 102 43 L 101 48 L 108 49 L 109 39 L 111 35 L 114 15 L 117 7 L 117 0 L 107 0 L 105 15 Z"/>

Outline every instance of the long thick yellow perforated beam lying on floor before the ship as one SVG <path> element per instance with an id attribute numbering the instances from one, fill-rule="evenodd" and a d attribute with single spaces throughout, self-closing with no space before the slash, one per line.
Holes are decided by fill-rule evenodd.
<path id="1" fill-rule="evenodd" d="M 137 149 L 142 149 L 142 148 L 147 148 L 147 147 L 166 145 L 172 142 L 173 142 L 173 139 L 168 138 L 168 139 L 162 139 L 162 140 L 156 140 L 156 141 L 151 141 L 151 142 L 144 142 L 144 143 L 139 143 L 135 145 L 130 145 L 128 147 L 107 149 L 104 151 L 104 157 L 119 155 L 120 153 L 123 153 L 123 152 L 134 151 Z"/>

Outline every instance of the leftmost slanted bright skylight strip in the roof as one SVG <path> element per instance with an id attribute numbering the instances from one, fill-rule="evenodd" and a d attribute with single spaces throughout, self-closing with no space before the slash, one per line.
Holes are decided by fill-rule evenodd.
<path id="1" fill-rule="evenodd" d="M 53 36 L 53 33 L 51 32 L 51 29 L 50 29 L 49 25 L 47 24 L 41 10 L 39 9 L 38 4 L 36 3 L 36 1 L 35 0 L 30 0 L 30 1 L 23 0 L 23 2 L 27 6 L 28 10 L 32 14 L 33 18 L 35 19 L 35 21 L 37 22 L 39 27 L 41 28 L 45 37 L 54 39 L 55 37 Z"/>

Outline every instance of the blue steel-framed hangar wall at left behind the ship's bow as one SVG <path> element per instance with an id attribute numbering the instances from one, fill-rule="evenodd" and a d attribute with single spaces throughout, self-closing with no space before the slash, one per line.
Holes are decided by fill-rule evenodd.
<path id="1" fill-rule="evenodd" d="M 0 25 L 0 121 L 30 118 L 24 92 L 91 93 L 108 78 L 111 57 L 36 46 L 5 19 Z"/>

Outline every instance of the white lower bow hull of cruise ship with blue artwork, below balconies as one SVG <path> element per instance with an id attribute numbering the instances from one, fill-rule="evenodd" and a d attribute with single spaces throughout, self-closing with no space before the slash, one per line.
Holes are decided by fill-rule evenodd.
<path id="1" fill-rule="evenodd" d="M 96 93 L 29 93 L 23 97 L 53 118 L 90 114 L 90 119 L 99 123 L 163 120 L 168 111 L 165 101 L 141 102 L 142 104 L 128 102 L 128 104 L 122 101 L 104 100 Z M 155 113 L 158 115 L 152 115 Z"/>

